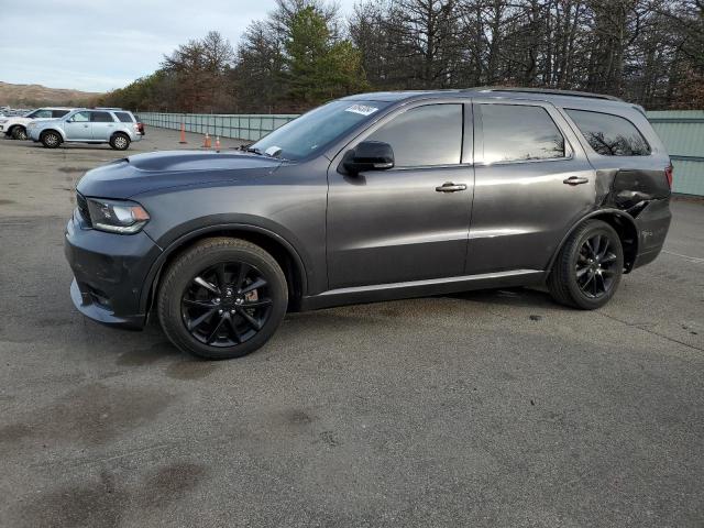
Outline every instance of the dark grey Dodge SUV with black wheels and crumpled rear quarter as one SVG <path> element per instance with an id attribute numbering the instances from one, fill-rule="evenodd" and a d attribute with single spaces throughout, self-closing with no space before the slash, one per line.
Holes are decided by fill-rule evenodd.
<path id="1" fill-rule="evenodd" d="M 287 310 L 547 284 L 595 309 L 660 253 L 672 167 L 639 107 L 528 89 L 348 97 L 241 153 L 89 170 L 66 228 L 72 297 L 205 358 Z M 468 321 L 471 323 L 471 321 Z"/>

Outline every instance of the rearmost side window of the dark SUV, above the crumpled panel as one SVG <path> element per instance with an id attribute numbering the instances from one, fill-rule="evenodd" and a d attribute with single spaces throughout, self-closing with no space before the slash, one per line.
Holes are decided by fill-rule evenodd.
<path id="1" fill-rule="evenodd" d="M 650 145 L 634 123 L 610 113 L 565 110 L 594 152 L 602 156 L 648 156 Z"/>

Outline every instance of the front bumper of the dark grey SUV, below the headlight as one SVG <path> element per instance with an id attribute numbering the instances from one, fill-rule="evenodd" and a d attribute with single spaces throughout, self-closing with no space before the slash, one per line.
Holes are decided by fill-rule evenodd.
<path id="1" fill-rule="evenodd" d="M 86 317 L 140 329 L 146 322 L 143 288 L 161 248 L 144 232 L 113 234 L 91 229 L 76 210 L 66 226 L 66 260 L 74 272 L 70 296 Z"/>

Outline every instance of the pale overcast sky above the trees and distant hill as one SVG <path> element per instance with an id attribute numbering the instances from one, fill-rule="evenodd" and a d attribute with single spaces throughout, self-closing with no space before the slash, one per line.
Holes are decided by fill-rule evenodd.
<path id="1" fill-rule="evenodd" d="M 350 12 L 354 0 L 339 0 Z M 237 45 L 274 0 L 0 0 L 0 80 L 106 91 L 220 31 Z"/>

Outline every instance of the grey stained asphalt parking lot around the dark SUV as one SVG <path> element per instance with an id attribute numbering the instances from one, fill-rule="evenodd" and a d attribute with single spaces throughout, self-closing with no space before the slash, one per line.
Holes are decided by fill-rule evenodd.
<path id="1" fill-rule="evenodd" d="M 124 155 L 0 140 L 0 526 L 704 526 L 702 201 L 594 312 L 351 306 L 205 362 L 70 302 L 74 186 Z"/>

